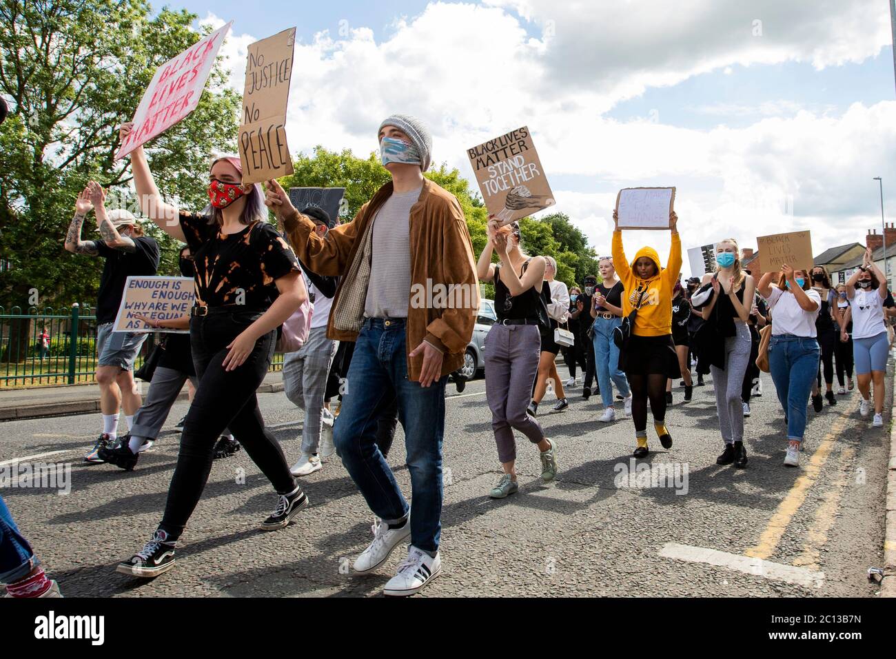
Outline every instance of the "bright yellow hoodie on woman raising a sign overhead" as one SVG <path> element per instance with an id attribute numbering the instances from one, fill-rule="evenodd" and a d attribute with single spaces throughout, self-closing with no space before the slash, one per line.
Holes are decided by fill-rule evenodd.
<path id="1" fill-rule="evenodd" d="M 642 256 L 647 256 L 657 265 L 657 274 L 650 279 L 641 279 L 634 273 L 634 263 Z M 666 269 L 659 265 L 659 255 L 653 247 L 642 247 L 634 256 L 631 264 L 625 258 L 622 247 L 622 231 L 613 232 L 613 264 L 619 281 L 625 286 L 622 297 L 622 310 L 625 316 L 632 313 L 638 303 L 642 291 L 644 297 L 638 315 L 635 316 L 633 334 L 638 336 L 663 336 L 672 334 L 672 290 L 681 273 L 681 238 L 677 232 L 672 234 L 672 247 L 669 249 L 669 260 Z"/>

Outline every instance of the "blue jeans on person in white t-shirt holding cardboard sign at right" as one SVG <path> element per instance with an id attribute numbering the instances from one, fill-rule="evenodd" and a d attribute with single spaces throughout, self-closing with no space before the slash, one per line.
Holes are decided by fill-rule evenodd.
<path id="1" fill-rule="evenodd" d="M 778 334 L 769 342 L 769 369 L 778 400 L 788 415 L 787 438 L 803 441 L 806 406 L 818 373 L 821 349 L 811 337 Z"/>

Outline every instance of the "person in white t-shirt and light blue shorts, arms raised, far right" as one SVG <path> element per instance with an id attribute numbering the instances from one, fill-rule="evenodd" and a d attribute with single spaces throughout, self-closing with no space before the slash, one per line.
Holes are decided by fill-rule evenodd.
<path id="1" fill-rule="evenodd" d="M 883 426 L 883 399 L 886 395 L 884 377 L 887 371 L 890 341 L 884 320 L 883 300 L 887 298 L 887 278 L 874 264 L 871 249 L 867 249 L 862 264 L 846 282 L 849 308 L 847 322 L 852 321 L 852 350 L 855 361 L 858 392 L 862 395 L 859 413 L 867 416 L 871 410 L 871 384 L 874 381 L 875 428 Z M 777 317 L 775 321 L 777 322 Z M 842 340 L 842 334 L 840 339 Z"/>

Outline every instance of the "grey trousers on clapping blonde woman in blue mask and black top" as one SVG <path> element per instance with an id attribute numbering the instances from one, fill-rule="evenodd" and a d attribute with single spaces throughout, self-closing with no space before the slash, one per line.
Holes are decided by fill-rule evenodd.
<path id="1" fill-rule="evenodd" d="M 735 321 L 737 335 L 725 339 L 725 369 L 711 366 L 712 385 L 716 390 L 719 430 L 726 444 L 744 440 L 744 387 L 746 367 L 750 363 L 750 329 Z"/>

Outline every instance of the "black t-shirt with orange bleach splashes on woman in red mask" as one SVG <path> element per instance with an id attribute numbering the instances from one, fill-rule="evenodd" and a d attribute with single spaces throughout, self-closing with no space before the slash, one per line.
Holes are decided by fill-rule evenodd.
<path id="1" fill-rule="evenodd" d="M 278 295 L 274 281 L 300 272 L 292 248 L 267 222 L 257 221 L 228 235 L 210 220 L 208 215 L 180 213 L 180 226 L 196 266 L 196 305 L 270 307 Z"/>

